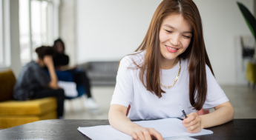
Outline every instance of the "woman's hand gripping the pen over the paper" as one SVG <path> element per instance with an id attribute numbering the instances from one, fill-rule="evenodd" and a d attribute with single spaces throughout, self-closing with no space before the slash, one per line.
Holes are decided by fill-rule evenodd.
<path id="1" fill-rule="evenodd" d="M 201 118 L 194 112 L 188 114 L 188 118 L 181 121 L 181 123 L 189 133 L 199 133 L 203 129 Z"/>

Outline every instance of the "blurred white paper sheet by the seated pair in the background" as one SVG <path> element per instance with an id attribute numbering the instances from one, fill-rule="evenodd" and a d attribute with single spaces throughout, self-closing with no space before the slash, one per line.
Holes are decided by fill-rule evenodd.
<path id="1" fill-rule="evenodd" d="M 78 96 L 76 90 L 76 83 L 73 81 L 58 81 L 59 87 L 62 87 L 64 90 L 65 96 L 67 97 L 76 97 Z"/>

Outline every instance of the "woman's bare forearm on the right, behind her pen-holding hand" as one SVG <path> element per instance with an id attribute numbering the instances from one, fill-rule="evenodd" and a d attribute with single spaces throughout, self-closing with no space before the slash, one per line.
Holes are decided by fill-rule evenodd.
<path id="1" fill-rule="evenodd" d="M 234 118 L 234 108 L 231 106 L 220 107 L 213 113 L 199 116 L 202 128 L 214 127 L 231 121 Z"/>

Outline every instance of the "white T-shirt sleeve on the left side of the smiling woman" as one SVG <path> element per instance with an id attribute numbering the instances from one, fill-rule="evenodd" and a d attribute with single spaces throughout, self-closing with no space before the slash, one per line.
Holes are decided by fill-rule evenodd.
<path id="1" fill-rule="evenodd" d="M 129 56 L 125 56 L 119 64 L 116 76 L 116 87 L 112 96 L 111 104 L 120 104 L 128 107 L 133 98 L 133 61 Z"/>

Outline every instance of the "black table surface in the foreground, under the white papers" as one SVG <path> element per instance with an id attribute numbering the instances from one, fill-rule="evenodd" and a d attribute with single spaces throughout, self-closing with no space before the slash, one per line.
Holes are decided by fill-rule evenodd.
<path id="1" fill-rule="evenodd" d="M 108 120 L 45 120 L 0 130 L 1 140 L 12 139 L 88 139 L 77 130 L 78 127 L 109 125 Z M 207 128 L 214 133 L 194 136 L 194 139 L 256 139 L 256 119 L 234 119 L 226 124 Z M 122 138 L 120 138 L 122 139 Z"/>

